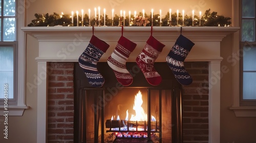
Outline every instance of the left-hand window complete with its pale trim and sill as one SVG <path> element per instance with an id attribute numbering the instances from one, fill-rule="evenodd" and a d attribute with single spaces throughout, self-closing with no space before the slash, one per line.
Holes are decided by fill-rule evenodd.
<path id="1" fill-rule="evenodd" d="M 29 5 L 30 1 L 26 1 Z M 25 104 L 25 0 L 0 1 L 0 115 L 8 87 L 8 116 L 23 115 Z"/>

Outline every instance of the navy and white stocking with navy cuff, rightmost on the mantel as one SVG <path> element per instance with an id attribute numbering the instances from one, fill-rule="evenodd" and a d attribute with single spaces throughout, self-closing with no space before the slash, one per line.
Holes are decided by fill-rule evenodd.
<path id="1" fill-rule="evenodd" d="M 184 67 L 184 60 L 192 49 L 195 43 L 180 35 L 176 40 L 172 50 L 166 57 L 166 62 L 172 69 L 175 78 L 182 85 L 189 85 L 193 82 L 191 76 L 187 73 Z"/>

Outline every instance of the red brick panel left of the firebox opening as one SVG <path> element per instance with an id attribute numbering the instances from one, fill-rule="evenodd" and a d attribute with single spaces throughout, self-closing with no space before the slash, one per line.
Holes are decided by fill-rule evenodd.
<path id="1" fill-rule="evenodd" d="M 48 143 L 72 143 L 74 63 L 50 62 L 48 69 Z"/>

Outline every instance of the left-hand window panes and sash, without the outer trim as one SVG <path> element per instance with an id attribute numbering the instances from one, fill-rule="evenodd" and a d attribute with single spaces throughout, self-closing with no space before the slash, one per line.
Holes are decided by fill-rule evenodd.
<path id="1" fill-rule="evenodd" d="M 17 44 L 16 44 L 16 2 L 15 0 L 1 1 L 1 42 L 0 42 L 0 93 L 8 97 L 8 105 L 17 104 Z M 5 88 L 6 87 L 6 88 Z M 4 94 L 0 94 L 0 101 L 3 101 Z M 0 102 L 3 105 L 4 102 Z"/>

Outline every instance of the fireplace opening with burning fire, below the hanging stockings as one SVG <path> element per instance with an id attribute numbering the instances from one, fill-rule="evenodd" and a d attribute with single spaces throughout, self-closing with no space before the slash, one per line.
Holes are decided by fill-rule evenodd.
<path id="1" fill-rule="evenodd" d="M 118 84 L 106 63 L 101 88 L 88 85 L 75 64 L 74 142 L 182 142 L 181 85 L 166 63 L 155 63 L 162 83 L 152 86 L 136 63 L 127 63 L 134 81 Z M 113 86 L 115 85 L 115 86 Z"/>

